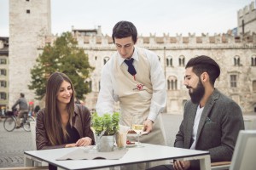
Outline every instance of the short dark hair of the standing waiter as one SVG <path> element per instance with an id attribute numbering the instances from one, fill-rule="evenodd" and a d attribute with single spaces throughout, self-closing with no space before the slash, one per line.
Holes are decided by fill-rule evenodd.
<path id="1" fill-rule="evenodd" d="M 137 29 L 136 27 L 129 21 L 119 21 L 115 26 L 113 26 L 112 39 L 114 42 L 114 38 L 124 38 L 124 37 L 132 37 L 132 41 L 134 43 L 137 42 Z"/>

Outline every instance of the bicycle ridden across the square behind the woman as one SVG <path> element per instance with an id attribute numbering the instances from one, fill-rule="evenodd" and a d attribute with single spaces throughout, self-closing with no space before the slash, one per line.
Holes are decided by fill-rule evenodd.
<path id="1" fill-rule="evenodd" d="M 16 113 L 16 114 L 15 114 Z M 12 132 L 15 130 L 17 126 L 17 111 L 7 111 L 7 117 L 3 122 L 3 127 L 6 131 Z M 28 116 L 28 112 L 23 114 L 23 118 L 20 118 L 20 127 L 26 132 L 30 132 L 30 122 L 35 122 L 35 118 L 33 116 Z"/>

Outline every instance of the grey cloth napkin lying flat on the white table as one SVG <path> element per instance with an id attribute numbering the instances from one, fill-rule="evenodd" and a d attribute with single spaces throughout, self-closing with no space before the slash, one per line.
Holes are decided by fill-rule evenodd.
<path id="1" fill-rule="evenodd" d="M 86 152 L 83 148 L 78 148 L 68 153 L 66 156 L 61 156 L 57 158 L 56 161 L 64 160 L 96 160 L 96 159 L 106 159 L 106 160 L 118 160 L 122 158 L 128 150 L 113 150 L 110 152 Z"/>

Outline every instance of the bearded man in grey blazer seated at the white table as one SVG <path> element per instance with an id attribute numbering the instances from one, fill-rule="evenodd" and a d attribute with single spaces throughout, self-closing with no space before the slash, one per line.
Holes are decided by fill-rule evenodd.
<path id="1" fill-rule="evenodd" d="M 240 130 L 244 129 L 241 108 L 214 88 L 219 77 L 218 64 L 208 56 L 189 59 L 184 85 L 189 100 L 184 106 L 183 122 L 174 146 L 191 150 L 209 150 L 211 161 L 231 161 Z M 200 169 L 199 161 L 174 161 L 150 170 Z"/>

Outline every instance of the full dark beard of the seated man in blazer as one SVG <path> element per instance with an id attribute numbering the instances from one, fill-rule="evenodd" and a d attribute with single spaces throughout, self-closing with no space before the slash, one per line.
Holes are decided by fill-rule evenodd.
<path id="1" fill-rule="evenodd" d="M 187 88 L 191 88 L 191 87 L 187 87 Z M 197 83 L 196 88 L 194 88 L 193 92 L 189 91 L 189 95 L 191 98 L 192 103 L 194 104 L 199 104 L 200 100 L 202 99 L 202 97 L 205 94 L 205 88 L 201 83 L 201 80 L 199 80 L 199 82 Z"/>

